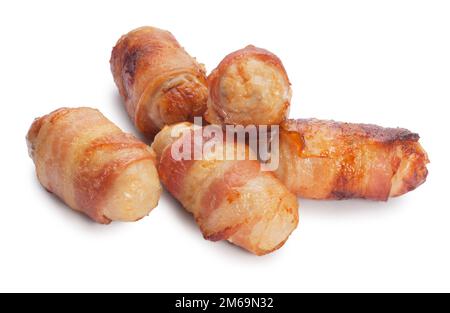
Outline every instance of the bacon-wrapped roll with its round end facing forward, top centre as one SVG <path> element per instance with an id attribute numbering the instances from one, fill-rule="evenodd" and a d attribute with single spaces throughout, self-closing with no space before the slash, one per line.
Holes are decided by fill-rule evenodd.
<path id="1" fill-rule="evenodd" d="M 291 87 L 273 53 L 248 46 L 219 64 L 208 77 L 205 119 L 211 124 L 278 125 L 287 118 Z"/>

